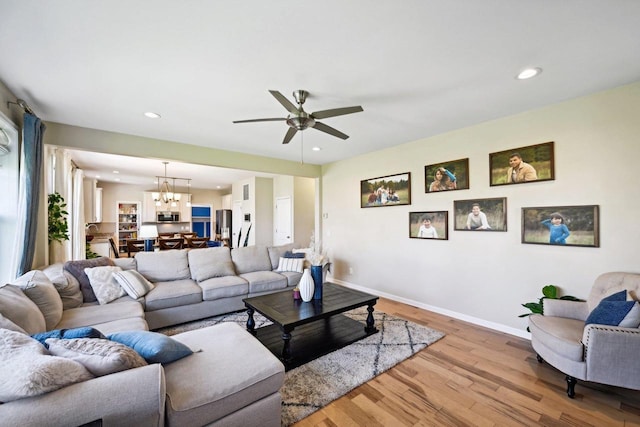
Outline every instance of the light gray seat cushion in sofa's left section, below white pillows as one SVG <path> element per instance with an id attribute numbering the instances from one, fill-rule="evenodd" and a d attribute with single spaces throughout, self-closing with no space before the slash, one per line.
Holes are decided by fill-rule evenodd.
<path id="1" fill-rule="evenodd" d="M 62 319 L 60 320 L 60 323 L 56 325 L 56 328 L 70 329 L 81 326 L 93 326 L 103 334 L 106 334 L 107 331 L 101 329 L 100 325 L 114 321 L 125 321 L 126 319 L 139 319 L 145 323 L 142 305 L 135 301 L 124 301 L 117 304 L 91 305 L 72 308 L 70 310 L 65 310 L 62 313 Z M 140 325 L 140 322 L 134 322 L 134 324 Z"/>

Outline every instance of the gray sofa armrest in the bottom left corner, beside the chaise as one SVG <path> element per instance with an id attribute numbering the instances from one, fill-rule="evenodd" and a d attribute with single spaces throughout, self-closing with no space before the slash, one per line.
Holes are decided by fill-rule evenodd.
<path id="1" fill-rule="evenodd" d="M 0 404 L 3 425 L 163 426 L 164 370 L 154 364 L 105 375 L 40 396 Z"/>

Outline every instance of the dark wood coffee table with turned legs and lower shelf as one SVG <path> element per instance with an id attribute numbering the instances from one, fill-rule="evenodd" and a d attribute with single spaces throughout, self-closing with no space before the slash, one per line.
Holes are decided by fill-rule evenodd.
<path id="1" fill-rule="evenodd" d="M 243 301 L 249 314 L 247 330 L 271 350 L 287 370 L 378 332 L 373 319 L 373 306 L 378 297 L 333 283 L 323 285 L 321 300 L 294 300 L 293 292 L 287 290 Z M 366 324 L 341 314 L 365 305 Z M 273 324 L 256 329 L 253 319 L 256 311 Z"/>

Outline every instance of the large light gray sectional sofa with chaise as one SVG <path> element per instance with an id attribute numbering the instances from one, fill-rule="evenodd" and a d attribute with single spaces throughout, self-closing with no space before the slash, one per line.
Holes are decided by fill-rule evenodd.
<path id="1" fill-rule="evenodd" d="M 140 298 L 123 296 L 108 304 L 79 301 L 80 283 L 62 266 L 49 266 L 0 287 L 0 329 L 35 334 L 91 326 L 109 335 L 242 310 L 243 298 L 297 285 L 300 272 L 274 271 L 291 249 L 218 247 L 116 259 L 118 267 L 137 270 L 153 288 Z M 224 323 L 172 338 L 194 353 L 0 403 L 0 424 L 280 425 L 284 367 L 244 328 Z M 0 342 L 0 364 L 11 351 Z"/>

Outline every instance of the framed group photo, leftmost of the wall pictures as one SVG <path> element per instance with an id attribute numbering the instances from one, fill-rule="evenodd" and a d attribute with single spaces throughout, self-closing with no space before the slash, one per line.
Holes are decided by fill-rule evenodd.
<path id="1" fill-rule="evenodd" d="M 360 207 L 411 204 L 411 172 L 360 181 Z"/>

